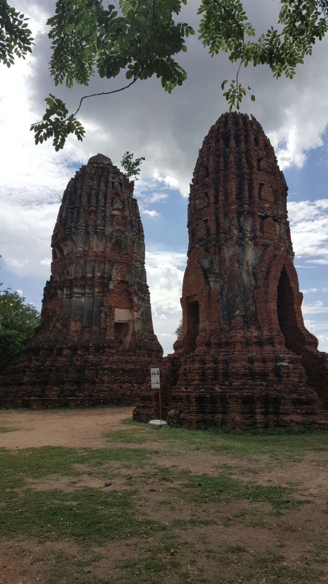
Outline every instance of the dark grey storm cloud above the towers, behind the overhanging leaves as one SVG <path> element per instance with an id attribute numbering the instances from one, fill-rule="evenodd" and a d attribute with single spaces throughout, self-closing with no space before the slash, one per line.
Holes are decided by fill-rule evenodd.
<path id="1" fill-rule="evenodd" d="M 46 7 L 49 13 L 53 5 L 53 2 L 42 3 L 43 10 Z M 190 2 L 181 15 L 195 27 L 196 8 L 197 3 Z M 246 8 L 259 31 L 263 27 L 266 30 L 277 13 L 276 3 L 269 1 L 262 2 L 261 10 L 258 2 L 249 0 Z M 82 95 L 126 84 L 122 74 L 110 81 L 94 78 L 89 88 L 55 88 L 48 74 L 49 45 L 45 34 L 38 35 L 33 77 L 29 83 L 34 109 L 40 114 L 44 110 L 43 99 L 49 92 L 64 99 L 73 112 Z M 258 117 L 264 131 L 272 134 L 276 142 L 285 141 L 285 155 L 282 155 L 285 165 L 301 164 L 302 152 L 318 145 L 319 135 L 328 121 L 322 103 L 328 89 L 326 47 L 326 41 L 319 43 L 313 57 L 299 68 L 292 82 L 287 79 L 276 81 L 264 67 L 249 67 L 241 71 L 242 81 L 251 85 L 256 93 L 255 104 L 245 99 L 244 111 Z M 231 64 L 225 54 L 212 59 L 197 36 L 188 39 L 188 53 L 179 55 L 178 60 L 188 71 L 188 79 L 171 95 L 167 95 L 158 79 L 154 78 L 137 82 L 117 95 L 85 100 L 79 117 L 89 129 L 83 144 L 76 144 L 77 156 L 83 159 L 98 151 L 108 152 L 119 164 L 126 150 L 144 155 L 143 172 L 146 175 L 151 175 L 154 168 L 163 175 L 170 174 L 179 180 L 186 194 L 203 137 L 227 109 L 221 95 L 221 81 L 234 78 L 237 65 Z M 316 116 L 309 123 L 313 106 Z"/>

